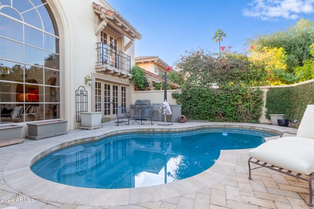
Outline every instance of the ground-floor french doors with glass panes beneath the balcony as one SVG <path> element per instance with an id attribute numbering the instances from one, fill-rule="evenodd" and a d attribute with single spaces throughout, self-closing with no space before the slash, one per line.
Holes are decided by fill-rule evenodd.
<path id="1" fill-rule="evenodd" d="M 95 111 L 103 112 L 105 117 L 116 117 L 115 108 L 118 106 L 127 107 L 127 86 L 96 81 Z"/>

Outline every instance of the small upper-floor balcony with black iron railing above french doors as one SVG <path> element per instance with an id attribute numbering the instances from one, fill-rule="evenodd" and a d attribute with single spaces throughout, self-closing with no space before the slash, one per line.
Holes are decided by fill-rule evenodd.
<path id="1" fill-rule="evenodd" d="M 103 42 L 97 45 L 96 71 L 131 78 L 131 57 Z"/>

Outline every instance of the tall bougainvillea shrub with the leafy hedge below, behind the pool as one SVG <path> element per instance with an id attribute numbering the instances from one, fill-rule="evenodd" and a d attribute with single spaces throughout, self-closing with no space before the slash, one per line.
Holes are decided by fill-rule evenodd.
<path id="1" fill-rule="evenodd" d="M 184 78 L 182 93 L 173 93 L 182 113 L 190 119 L 229 122 L 259 122 L 262 91 L 249 85 L 259 84 L 262 66 L 254 65 L 241 54 L 191 51 L 177 63 Z"/>

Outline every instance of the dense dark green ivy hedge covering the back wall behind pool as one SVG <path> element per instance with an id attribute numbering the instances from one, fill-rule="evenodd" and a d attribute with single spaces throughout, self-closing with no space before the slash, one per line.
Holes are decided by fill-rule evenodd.
<path id="1" fill-rule="evenodd" d="M 262 91 L 242 86 L 195 88 L 172 93 L 188 119 L 259 123 Z"/>

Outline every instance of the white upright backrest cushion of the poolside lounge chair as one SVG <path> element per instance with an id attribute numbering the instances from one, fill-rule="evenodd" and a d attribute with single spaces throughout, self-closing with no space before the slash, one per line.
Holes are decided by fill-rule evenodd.
<path id="1" fill-rule="evenodd" d="M 297 137 L 314 139 L 313 118 L 314 118 L 314 105 L 308 105 L 302 117 L 298 131 L 296 133 Z"/>

